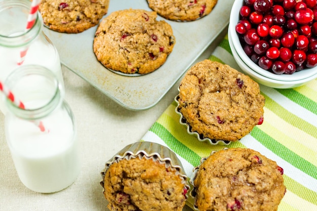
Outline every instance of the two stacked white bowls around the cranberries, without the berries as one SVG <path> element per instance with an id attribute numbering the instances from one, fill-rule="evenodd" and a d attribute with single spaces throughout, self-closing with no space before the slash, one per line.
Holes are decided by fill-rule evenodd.
<path id="1" fill-rule="evenodd" d="M 245 0 L 235 0 L 231 9 L 228 28 L 228 39 L 232 55 L 242 71 L 258 83 L 278 89 L 299 87 L 308 81 L 317 78 L 317 66 L 312 68 L 304 68 L 303 70 L 296 71 L 292 74 L 275 74 L 270 70 L 261 68 L 249 58 L 243 49 L 239 34 L 235 30 L 236 24 L 241 19 L 240 9 L 244 4 Z"/>

